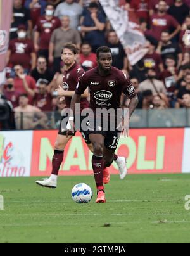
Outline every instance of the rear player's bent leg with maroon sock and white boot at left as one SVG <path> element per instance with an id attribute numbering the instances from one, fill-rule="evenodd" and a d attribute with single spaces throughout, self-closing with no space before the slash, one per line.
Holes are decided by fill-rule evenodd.
<path id="1" fill-rule="evenodd" d="M 66 137 L 66 135 L 58 134 L 56 138 L 56 143 L 54 146 L 54 155 L 52 159 L 52 172 L 49 179 L 44 179 L 43 181 L 36 181 L 36 183 L 40 186 L 46 187 L 46 188 L 56 188 L 57 186 L 57 179 L 58 179 L 58 172 L 60 170 L 61 163 L 63 162 L 64 157 L 64 150 L 66 147 L 66 144 L 72 136 Z"/>

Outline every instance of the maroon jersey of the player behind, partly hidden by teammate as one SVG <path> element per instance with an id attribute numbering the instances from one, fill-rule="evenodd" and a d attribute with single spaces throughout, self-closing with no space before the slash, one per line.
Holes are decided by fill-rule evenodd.
<path id="1" fill-rule="evenodd" d="M 63 74 L 63 89 L 65 91 L 75 91 L 80 77 L 84 74 L 84 70 L 75 63 L 69 70 Z M 66 108 L 70 108 L 72 98 L 65 97 Z M 86 98 L 81 98 L 81 110 L 89 108 L 89 102 Z"/>

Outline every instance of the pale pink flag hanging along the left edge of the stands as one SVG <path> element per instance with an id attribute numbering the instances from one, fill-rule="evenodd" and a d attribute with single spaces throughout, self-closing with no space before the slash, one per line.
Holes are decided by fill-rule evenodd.
<path id="1" fill-rule="evenodd" d="M 0 0 L 0 85 L 4 82 L 13 1 Z"/>

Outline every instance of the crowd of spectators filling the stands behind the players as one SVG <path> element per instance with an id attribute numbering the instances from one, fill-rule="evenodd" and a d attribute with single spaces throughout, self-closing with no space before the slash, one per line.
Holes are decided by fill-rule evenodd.
<path id="1" fill-rule="evenodd" d="M 134 66 L 99 1 L 13 0 L 6 84 L 0 88 L 1 108 L 9 115 L 1 115 L 0 128 L 58 127 L 65 103 L 54 89 L 62 84 L 66 42 L 77 44 L 77 62 L 84 70 L 96 67 L 99 46 L 109 46 L 113 66 L 136 87 L 137 108 L 190 108 L 190 0 L 119 3 L 136 13 L 147 40 L 148 53 Z"/>

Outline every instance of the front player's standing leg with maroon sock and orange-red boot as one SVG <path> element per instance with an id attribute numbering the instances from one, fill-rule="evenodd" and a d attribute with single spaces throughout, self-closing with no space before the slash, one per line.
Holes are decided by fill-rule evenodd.
<path id="1" fill-rule="evenodd" d="M 92 156 L 92 168 L 94 170 L 94 179 L 98 191 L 96 203 L 105 203 L 105 191 L 103 185 L 103 170 L 105 169 L 103 161 L 103 147 L 105 137 L 101 134 L 90 134 L 89 139 L 93 146 L 94 155 Z"/>

